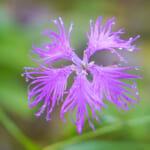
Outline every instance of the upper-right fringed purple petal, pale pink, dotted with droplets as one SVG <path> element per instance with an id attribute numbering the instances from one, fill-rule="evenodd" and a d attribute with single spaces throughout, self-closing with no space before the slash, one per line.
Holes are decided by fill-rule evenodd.
<path id="1" fill-rule="evenodd" d="M 120 57 L 122 61 L 126 61 L 116 49 L 127 51 L 139 50 L 139 48 L 136 48 L 136 45 L 132 45 L 140 37 L 139 35 L 135 38 L 131 37 L 129 40 L 120 39 L 119 35 L 124 33 L 123 29 L 116 32 L 111 31 L 112 26 L 115 24 L 114 18 L 108 20 L 104 27 L 101 25 L 101 20 L 102 17 L 98 17 L 95 27 L 93 27 L 92 20 L 90 20 L 91 34 L 87 33 L 89 42 L 85 51 L 88 58 L 97 51 L 108 50 Z"/>

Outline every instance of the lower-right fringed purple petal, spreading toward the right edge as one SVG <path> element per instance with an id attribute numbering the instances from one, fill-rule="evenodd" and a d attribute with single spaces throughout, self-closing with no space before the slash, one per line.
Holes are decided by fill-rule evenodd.
<path id="1" fill-rule="evenodd" d="M 133 79 L 141 79 L 141 77 L 123 72 L 129 69 L 131 67 L 93 65 L 90 71 L 93 75 L 94 93 L 98 93 L 101 98 L 105 94 L 105 99 L 113 102 L 118 109 L 121 107 L 129 110 L 128 103 L 134 107 L 134 104 L 139 102 L 139 95 Z M 124 83 L 120 79 L 129 80 L 132 84 Z"/>

